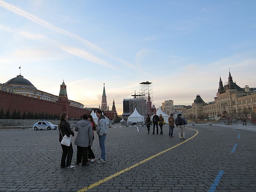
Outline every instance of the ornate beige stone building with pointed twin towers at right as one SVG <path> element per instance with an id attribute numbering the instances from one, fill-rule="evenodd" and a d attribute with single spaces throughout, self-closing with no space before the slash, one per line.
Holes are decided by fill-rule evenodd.
<path id="1" fill-rule="evenodd" d="M 223 86 L 220 78 L 219 88 L 213 102 L 205 103 L 200 95 L 192 106 L 184 107 L 187 119 L 207 119 L 209 115 L 227 115 L 232 118 L 256 117 L 256 88 L 241 88 L 233 82 L 229 72 L 228 82 Z"/>

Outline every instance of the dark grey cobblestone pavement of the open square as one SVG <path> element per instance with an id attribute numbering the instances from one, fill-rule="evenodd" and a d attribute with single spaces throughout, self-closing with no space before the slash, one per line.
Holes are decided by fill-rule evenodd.
<path id="1" fill-rule="evenodd" d="M 116 126 L 108 128 L 106 163 L 73 169 L 60 168 L 57 130 L 0 130 L 0 191 L 79 191 L 183 142 L 176 127 L 169 138 L 168 126 L 163 135 L 152 135 L 152 127 L 146 134 L 146 127 Z M 187 139 L 195 130 L 198 135 L 88 191 L 256 191 L 256 132 L 222 124 L 186 127 Z M 97 137 L 92 149 L 99 157 Z"/>

